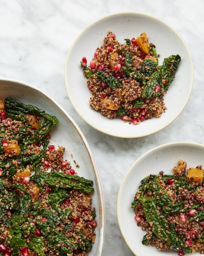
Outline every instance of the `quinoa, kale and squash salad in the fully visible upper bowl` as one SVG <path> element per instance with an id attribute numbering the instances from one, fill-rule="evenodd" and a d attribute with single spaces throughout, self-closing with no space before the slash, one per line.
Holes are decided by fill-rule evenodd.
<path id="1" fill-rule="evenodd" d="M 92 94 L 91 108 L 107 118 L 120 116 L 124 122 L 137 125 L 152 117 L 159 118 L 166 110 L 163 96 L 181 58 L 171 55 L 158 66 L 155 45 L 149 44 L 145 33 L 125 41 L 119 43 L 110 30 L 90 66 L 83 57 L 81 67 Z"/>

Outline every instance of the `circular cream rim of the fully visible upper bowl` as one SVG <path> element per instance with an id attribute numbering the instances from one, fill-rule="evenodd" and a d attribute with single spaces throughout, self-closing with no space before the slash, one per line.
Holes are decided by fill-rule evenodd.
<path id="1" fill-rule="evenodd" d="M 115 17 L 115 16 L 120 16 L 120 15 L 139 15 L 139 16 L 145 16 L 145 17 L 148 17 L 148 18 L 152 18 L 153 20 L 157 20 L 157 22 L 160 22 L 162 23 L 163 25 L 165 25 L 166 27 L 168 27 L 174 34 L 177 35 L 177 37 L 180 39 L 180 41 L 182 42 L 184 48 L 186 49 L 186 52 L 188 54 L 188 59 L 190 61 L 190 66 L 191 66 L 191 73 L 192 73 L 192 77 L 191 77 L 191 81 L 190 81 L 190 84 L 191 84 L 191 87 L 190 87 L 190 91 L 188 93 L 188 97 L 186 97 L 186 100 L 184 102 L 184 105 L 182 106 L 182 109 L 177 113 L 177 115 L 172 118 L 168 123 L 166 123 L 165 125 L 163 125 L 162 127 L 160 128 L 157 128 L 155 131 L 153 132 L 146 132 L 146 134 L 143 134 L 143 135 L 140 135 L 140 136 L 137 136 L 137 134 L 135 135 L 128 135 L 128 134 L 124 134 L 124 135 L 116 135 L 112 132 L 109 132 L 109 131 L 104 131 L 102 128 L 100 127 L 97 127 L 97 125 L 95 125 L 93 122 L 90 122 L 89 119 L 85 118 L 82 113 L 80 112 L 80 110 L 78 109 L 78 107 L 74 104 L 73 100 L 72 100 L 72 97 L 69 93 L 69 82 L 67 81 L 66 77 L 67 77 L 67 66 L 68 66 L 68 62 L 69 62 L 69 57 L 71 55 L 71 52 L 75 46 L 75 43 L 78 41 L 78 39 L 80 38 L 80 36 L 82 36 L 82 34 L 84 34 L 84 32 L 86 32 L 87 30 L 89 30 L 90 27 L 92 27 L 93 25 L 97 24 L 97 23 L 100 23 L 102 20 L 105 20 L 106 18 L 111 18 L 111 17 Z M 163 20 L 160 20 L 159 18 L 155 17 L 155 16 L 152 16 L 150 14 L 146 14 L 146 13 L 142 13 L 142 12 L 132 12 L 132 11 L 124 11 L 124 12 L 117 12 L 117 13 L 113 13 L 113 14 L 109 14 L 109 15 L 106 15 L 106 16 L 103 16 L 102 18 L 99 18 L 98 20 L 95 20 L 93 21 L 92 23 L 90 23 L 89 25 L 87 25 L 84 29 L 82 29 L 82 31 L 80 32 L 80 34 L 78 34 L 78 36 L 75 38 L 75 40 L 73 41 L 70 49 L 69 49 L 69 52 L 67 54 L 67 59 L 66 59 L 66 62 L 65 62 L 65 66 L 64 66 L 64 83 L 65 83 L 65 87 L 66 87 L 66 90 L 67 90 L 67 94 L 68 94 L 68 97 L 69 97 L 69 100 L 72 104 L 72 106 L 74 107 L 75 111 L 79 114 L 79 116 L 87 123 L 89 124 L 91 127 L 93 127 L 94 129 L 98 130 L 98 131 L 101 131 L 103 132 L 104 134 L 108 134 L 110 136 L 114 136 L 114 137 L 118 137 L 118 138 L 141 138 L 141 137 L 144 137 L 144 136 L 149 136 L 151 134 L 154 134 L 158 131 L 161 131 L 162 129 L 164 129 L 165 127 L 167 127 L 168 125 L 170 125 L 181 113 L 182 111 L 184 110 L 186 104 L 188 103 L 188 100 L 191 96 L 191 92 L 192 92 L 192 89 L 193 89 L 193 81 L 194 81 L 194 70 L 193 70 L 193 61 L 192 61 L 192 58 L 191 58 L 191 54 L 186 46 L 186 44 L 184 43 L 183 39 L 181 38 L 181 36 L 171 27 L 169 26 L 167 23 L 165 23 Z"/>

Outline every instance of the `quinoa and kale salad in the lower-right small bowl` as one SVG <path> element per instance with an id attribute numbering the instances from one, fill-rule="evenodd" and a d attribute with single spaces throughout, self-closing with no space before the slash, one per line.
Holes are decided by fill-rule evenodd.
<path id="1" fill-rule="evenodd" d="M 137 226 L 146 231 L 143 245 L 174 249 L 179 256 L 204 253 L 204 170 L 179 160 L 174 175 L 163 171 L 141 181 L 132 208 Z"/>

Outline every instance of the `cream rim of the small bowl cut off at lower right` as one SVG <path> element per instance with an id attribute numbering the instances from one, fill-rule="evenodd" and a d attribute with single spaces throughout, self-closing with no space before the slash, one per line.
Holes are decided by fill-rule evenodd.
<path id="1" fill-rule="evenodd" d="M 120 220 L 119 220 L 119 199 L 120 199 L 120 196 L 121 196 L 121 193 L 122 193 L 122 188 L 124 186 L 124 183 L 127 179 L 127 177 L 129 176 L 129 174 L 133 171 L 133 169 L 135 168 L 135 165 L 137 165 L 138 162 L 140 162 L 142 159 L 144 159 L 146 156 L 148 156 L 149 154 L 151 154 L 152 152 L 154 151 L 157 151 L 157 150 L 162 150 L 164 148 L 168 148 L 168 147 L 171 147 L 171 146 L 181 146 L 181 145 L 188 145 L 188 146 L 193 146 L 193 147 L 200 147 L 200 148 L 203 148 L 204 150 L 204 145 L 203 144 L 200 144 L 200 143 L 194 143 L 194 142 L 188 142 L 188 141 L 177 141 L 177 142 L 171 142 L 171 143 L 165 143 L 165 144 L 162 144 L 160 146 L 157 146 L 157 147 L 154 147 L 153 149 L 145 152 L 144 154 L 142 154 L 142 156 L 140 156 L 132 165 L 131 167 L 129 168 L 129 170 L 126 172 L 121 184 L 120 184 L 120 188 L 119 188 L 119 191 L 118 191 L 118 198 L 117 198 L 117 219 L 118 219 L 118 225 L 119 225 L 119 228 L 120 228 L 120 232 L 122 234 L 122 237 L 124 238 L 126 244 L 128 245 L 129 249 L 131 249 L 131 251 L 133 252 L 133 254 L 135 254 L 136 256 L 139 256 L 139 254 L 137 254 L 135 252 L 135 250 L 131 247 L 131 245 L 129 244 L 129 242 L 126 240 L 125 236 L 124 236 L 124 233 L 122 231 L 122 227 L 121 227 L 121 223 L 120 223 Z"/>

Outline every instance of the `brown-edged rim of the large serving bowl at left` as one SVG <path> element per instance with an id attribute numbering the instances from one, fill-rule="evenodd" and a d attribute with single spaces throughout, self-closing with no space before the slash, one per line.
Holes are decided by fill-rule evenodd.
<path id="1" fill-rule="evenodd" d="M 53 102 L 53 104 L 55 104 L 55 106 L 60 109 L 62 111 L 62 113 L 64 113 L 64 115 L 67 117 L 67 119 L 71 122 L 71 124 L 73 125 L 73 127 L 76 129 L 76 131 L 78 132 L 79 136 L 81 137 L 85 147 L 86 147 L 86 150 L 90 156 L 90 159 L 91 159 L 91 164 L 93 165 L 93 170 L 95 172 L 95 177 L 97 179 L 97 186 L 98 186 L 98 191 L 99 191 L 99 195 L 98 195 L 98 198 L 99 198 L 99 202 L 100 202 L 100 205 L 101 205 L 101 209 L 100 209 L 100 217 L 101 217 L 101 222 L 100 222 L 100 233 L 99 233 L 99 247 L 98 247 L 98 256 L 101 256 L 102 255 L 102 251 L 103 251 L 103 245 L 104 245 L 104 232 L 105 232 L 105 209 L 104 209 L 104 197 L 103 197 L 103 193 L 102 193 L 102 185 L 101 185 L 101 181 L 100 181 L 100 176 L 99 176 L 99 172 L 98 172 L 98 169 L 97 169 L 97 166 L 95 164 L 95 160 L 93 158 L 93 155 L 91 153 L 91 148 L 89 147 L 89 144 L 84 136 L 84 134 L 82 133 L 82 130 L 80 129 L 80 127 L 77 125 L 77 123 L 73 120 L 73 118 L 67 113 L 67 111 L 62 107 L 60 106 L 55 100 L 52 99 L 51 96 L 49 96 L 47 93 L 45 93 L 44 91 L 42 91 L 41 89 L 31 85 L 31 84 L 28 84 L 28 83 L 25 83 L 25 82 L 22 82 L 20 80 L 17 80 L 17 79 L 11 79 L 11 78 L 7 78 L 7 77 L 0 77 L 0 82 L 4 82 L 4 81 L 7 81 L 7 82 L 11 82 L 11 83 L 17 83 L 17 84 L 20 84 L 22 86 L 25 86 L 25 87 L 29 87 L 29 88 L 32 88 L 34 91 L 38 91 L 39 93 L 41 93 L 42 95 L 44 95 L 45 97 L 47 97 L 51 102 Z"/>

